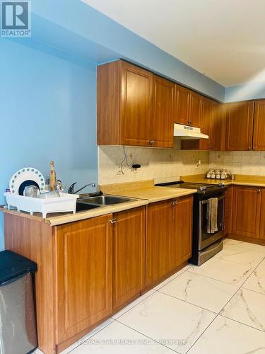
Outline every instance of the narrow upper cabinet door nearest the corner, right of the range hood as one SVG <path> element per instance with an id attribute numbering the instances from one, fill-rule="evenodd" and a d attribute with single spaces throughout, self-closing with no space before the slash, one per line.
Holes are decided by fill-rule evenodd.
<path id="1" fill-rule="evenodd" d="M 212 151 L 223 151 L 225 149 L 225 112 L 223 105 L 212 102 L 210 149 Z"/>

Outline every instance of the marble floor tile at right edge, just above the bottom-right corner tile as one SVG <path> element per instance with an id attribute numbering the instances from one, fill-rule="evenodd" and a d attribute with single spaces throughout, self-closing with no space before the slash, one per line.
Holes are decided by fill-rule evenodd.
<path id="1" fill-rule="evenodd" d="M 265 295 L 240 289 L 220 315 L 265 331 Z"/>

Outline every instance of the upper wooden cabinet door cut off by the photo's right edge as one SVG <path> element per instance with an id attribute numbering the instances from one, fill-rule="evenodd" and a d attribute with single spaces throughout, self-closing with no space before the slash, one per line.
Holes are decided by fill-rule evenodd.
<path id="1" fill-rule="evenodd" d="M 254 103 L 253 150 L 265 150 L 265 100 Z"/>

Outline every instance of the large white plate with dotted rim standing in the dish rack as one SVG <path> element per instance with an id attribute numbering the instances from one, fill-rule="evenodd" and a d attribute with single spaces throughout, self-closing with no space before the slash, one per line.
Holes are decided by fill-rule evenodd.
<path id="1" fill-rule="evenodd" d="M 45 178 L 42 173 L 33 167 L 24 167 L 14 173 L 9 181 L 11 193 L 18 195 L 20 185 L 25 181 L 34 181 L 39 186 L 40 193 L 45 192 Z"/>

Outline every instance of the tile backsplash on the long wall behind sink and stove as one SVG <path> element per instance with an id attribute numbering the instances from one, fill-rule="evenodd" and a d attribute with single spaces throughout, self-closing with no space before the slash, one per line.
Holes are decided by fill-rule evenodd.
<path id="1" fill-rule="evenodd" d="M 182 151 L 180 139 L 175 139 L 172 149 L 125 147 L 128 164 L 140 164 L 141 168 L 131 171 L 122 164 L 124 174 L 119 173 L 119 164 L 124 159 L 122 147 L 100 146 L 99 183 L 122 183 L 155 179 L 158 182 L 179 180 L 179 176 L 205 173 L 209 164 L 209 152 Z M 201 160 L 201 164 L 197 162 Z"/>

